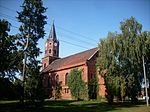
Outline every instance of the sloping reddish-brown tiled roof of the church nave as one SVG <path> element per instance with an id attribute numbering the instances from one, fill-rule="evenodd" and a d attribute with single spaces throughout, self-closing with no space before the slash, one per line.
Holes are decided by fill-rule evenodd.
<path id="1" fill-rule="evenodd" d="M 48 67 L 42 70 L 42 72 L 54 71 L 60 68 L 65 68 L 66 66 L 73 67 L 76 64 L 86 62 L 90 59 L 96 52 L 98 48 L 89 49 L 65 58 L 57 59 L 53 61 Z"/>

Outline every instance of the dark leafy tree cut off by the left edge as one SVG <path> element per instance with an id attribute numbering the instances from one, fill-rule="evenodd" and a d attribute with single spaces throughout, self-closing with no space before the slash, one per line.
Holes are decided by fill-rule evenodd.
<path id="1" fill-rule="evenodd" d="M 14 79 L 16 78 L 15 72 L 18 71 L 19 56 L 15 41 L 16 36 L 9 35 L 10 26 L 8 21 L 0 20 L 0 77 Z"/>

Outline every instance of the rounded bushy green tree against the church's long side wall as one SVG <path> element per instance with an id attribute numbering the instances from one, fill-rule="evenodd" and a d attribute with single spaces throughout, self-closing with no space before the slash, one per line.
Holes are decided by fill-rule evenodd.
<path id="1" fill-rule="evenodd" d="M 86 87 L 82 80 L 82 70 L 72 69 L 68 78 L 71 95 L 77 100 L 85 99 Z"/>

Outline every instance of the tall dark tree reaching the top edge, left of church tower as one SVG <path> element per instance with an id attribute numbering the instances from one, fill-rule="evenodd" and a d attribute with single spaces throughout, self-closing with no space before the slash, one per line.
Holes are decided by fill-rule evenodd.
<path id="1" fill-rule="evenodd" d="M 24 51 L 27 54 L 27 63 L 25 66 L 25 92 L 26 96 L 28 96 L 27 98 L 35 102 L 37 100 L 42 100 L 39 99 L 39 96 L 42 96 L 41 92 L 43 92 L 39 91 L 42 90 L 42 83 L 37 57 L 41 53 L 38 48 L 38 41 L 45 35 L 44 25 L 46 24 L 46 16 L 43 14 L 46 8 L 43 7 L 42 0 L 24 0 L 21 7 L 22 11 L 18 12 L 17 17 L 18 21 L 21 22 L 18 45 L 20 46 L 20 50 L 24 51 L 28 39 L 28 47 Z M 20 68 L 20 71 L 23 72 L 22 68 Z"/>

